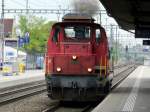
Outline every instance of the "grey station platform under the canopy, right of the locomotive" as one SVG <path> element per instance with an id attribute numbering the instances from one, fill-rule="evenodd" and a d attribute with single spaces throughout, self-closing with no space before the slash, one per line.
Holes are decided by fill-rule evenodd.
<path id="1" fill-rule="evenodd" d="M 150 112 L 150 66 L 139 66 L 92 112 Z"/>

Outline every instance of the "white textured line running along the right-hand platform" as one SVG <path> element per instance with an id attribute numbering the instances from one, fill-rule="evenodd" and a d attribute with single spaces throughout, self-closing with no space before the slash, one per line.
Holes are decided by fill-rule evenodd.
<path id="1" fill-rule="evenodd" d="M 126 103 L 122 109 L 123 112 L 132 112 L 133 111 L 135 101 L 136 101 L 136 98 L 138 96 L 138 90 L 139 90 L 142 74 L 143 74 L 143 67 L 141 68 L 141 71 L 138 74 L 138 77 L 137 77 L 137 80 L 133 86 L 133 89 L 132 89 L 129 97 L 127 98 L 127 101 L 126 101 Z"/>

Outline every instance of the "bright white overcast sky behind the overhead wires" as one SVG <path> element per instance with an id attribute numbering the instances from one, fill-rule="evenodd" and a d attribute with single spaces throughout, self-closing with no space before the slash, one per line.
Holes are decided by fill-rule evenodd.
<path id="1" fill-rule="evenodd" d="M 2 1 L 2 0 L 1 0 Z M 5 2 L 5 9 L 25 9 L 26 8 L 26 1 L 27 0 L 4 0 Z M 28 0 L 29 2 L 29 8 L 30 9 L 72 9 L 72 1 L 73 0 Z M 0 3 L 1 5 L 1 3 Z M 100 9 L 104 10 L 104 7 L 99 2 Z M 36 14 L 37 15 L 37 14 Z M 5 14 L 5 17 L 7 18 L 14 18 L 17 17 L 18 14 Z M 58 20 L 58 15 L 56 14 L 41 14 L 37 16 L 42 16 L 44 18 L 47 18 L 48 20 Z M 60 15 L 60 18 L 63 15 Z M 96 15 L 94 16 L 96 22 L 100 22 L 100 16 Z M 107 14 L 101 15 L 102 25 L 110 25 L 114 24 L 117 25 L 114 19 L 107 16 Z M 109 36 L 110 30 L 109 28 L 107 30 L 107 35 Z M 119 30 L 120 35 L 121 34 L 129 34 L 123 30 Z M 130 35 L 130 34 L 129 34 Z M 132 35 L 133 36 L 133 35 Z M 122 38 L 122 41 L 126 41 L 126 38 Z M 128 40 L 135 40 L 134 38 L 130 38 Z M 133 43 L 133 41 L 132 41 Z"/>

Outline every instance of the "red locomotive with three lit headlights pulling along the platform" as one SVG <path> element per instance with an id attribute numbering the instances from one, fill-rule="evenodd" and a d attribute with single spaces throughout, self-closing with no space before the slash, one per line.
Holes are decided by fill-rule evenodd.
<path id="1" fill-rule="evenodd" d="M 53 25 L 46 53 L 48 96 L 95 101 L 109 92 L 109 48 L 104 28 L 85 14 L 67 14 Z"/>

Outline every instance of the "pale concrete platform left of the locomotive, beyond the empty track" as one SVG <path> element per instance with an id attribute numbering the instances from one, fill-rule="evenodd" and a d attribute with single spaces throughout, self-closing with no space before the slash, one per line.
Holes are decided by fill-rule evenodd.
<path id="1" fill-rule="evenodd" d="M 4 76 L 0 72 L 0 89 L 44 79 L 44 70 L 26 70 L 25 73 L 12 76 Z"/>

